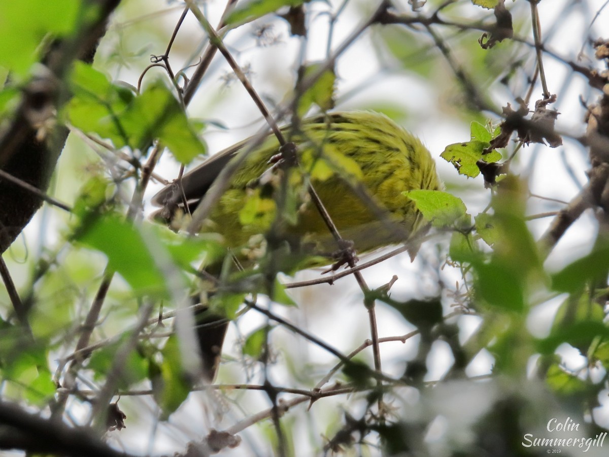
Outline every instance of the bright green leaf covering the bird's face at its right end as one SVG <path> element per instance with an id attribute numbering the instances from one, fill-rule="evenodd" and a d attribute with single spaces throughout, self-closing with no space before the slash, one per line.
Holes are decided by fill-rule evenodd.
<path id="1" fill-rule="evenodd" d="M 417 209 L 434 227 L 465 229 L 471 224 L 471 216 L 463 200 L 444 191 L 412 190 L 404 195 L 415 202 Z"/>

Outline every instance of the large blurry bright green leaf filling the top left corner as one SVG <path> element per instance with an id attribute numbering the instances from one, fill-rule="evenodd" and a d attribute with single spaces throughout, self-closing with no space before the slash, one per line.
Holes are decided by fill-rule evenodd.
<path id="1" fill-rule="evenodd" d="M 79 23 L 79 0 L 0 2 L 0 62 L 23 76 L 38 60 L 38 46 L 51 34 L 71 34 Z M 82 20 L 82 19 L 81 19 Z"/>

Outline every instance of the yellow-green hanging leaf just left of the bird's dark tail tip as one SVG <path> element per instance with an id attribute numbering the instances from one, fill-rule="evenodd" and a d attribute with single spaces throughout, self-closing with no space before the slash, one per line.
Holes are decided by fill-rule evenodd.
<path id="1" fill-rule="evenodd" d="M 163 362 L 150 364 L 153 396 L 161 408 L 161 420 L 169 416 L 186 400 L 191 391 L 181 364 L 177 335 L 171 335 L 161 350 Z"/>

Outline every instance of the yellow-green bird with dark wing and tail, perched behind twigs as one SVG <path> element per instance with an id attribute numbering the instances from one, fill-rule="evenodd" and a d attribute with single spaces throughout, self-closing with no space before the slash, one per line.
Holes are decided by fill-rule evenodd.
<path id="1" fill-rule="evenodd" d="M 298 128 L 281 130 L 297 147 L 296 165 L 272 167 L 280 144 L 269 135 L 233 174 L 203 224 L 202 231 L 220 233 L 236 257 L 253 235 L 276 229 L 281 202 L 281 235 L 294 252 L 315 259 L 302 265 L 333 263 L 336 240 L 306 192 L 309 183 L 342 238 L 353 241 L 357 252 L 407 242 L 426 229 L 404 191 L 441 188 L 434 160 L 416 136 L 387 116 L 367 111 L 328 113 L 304 119 Z M 153 198 L 153 204 L 162 207 L 155 217 L 174 228 L 183 225 L 220 171 L 249 141 L 214 155 L 179 183 L 161 190 Z M 284 198 L 278 199 L 282 172 L 287 174 L 283 177 L 287 185 Z M 214 319 L 217 316 L 204 321 Z M 202 326 L 198 332 L 209 380 L 216 372 L 225 330 L 223 324 Z"/>

